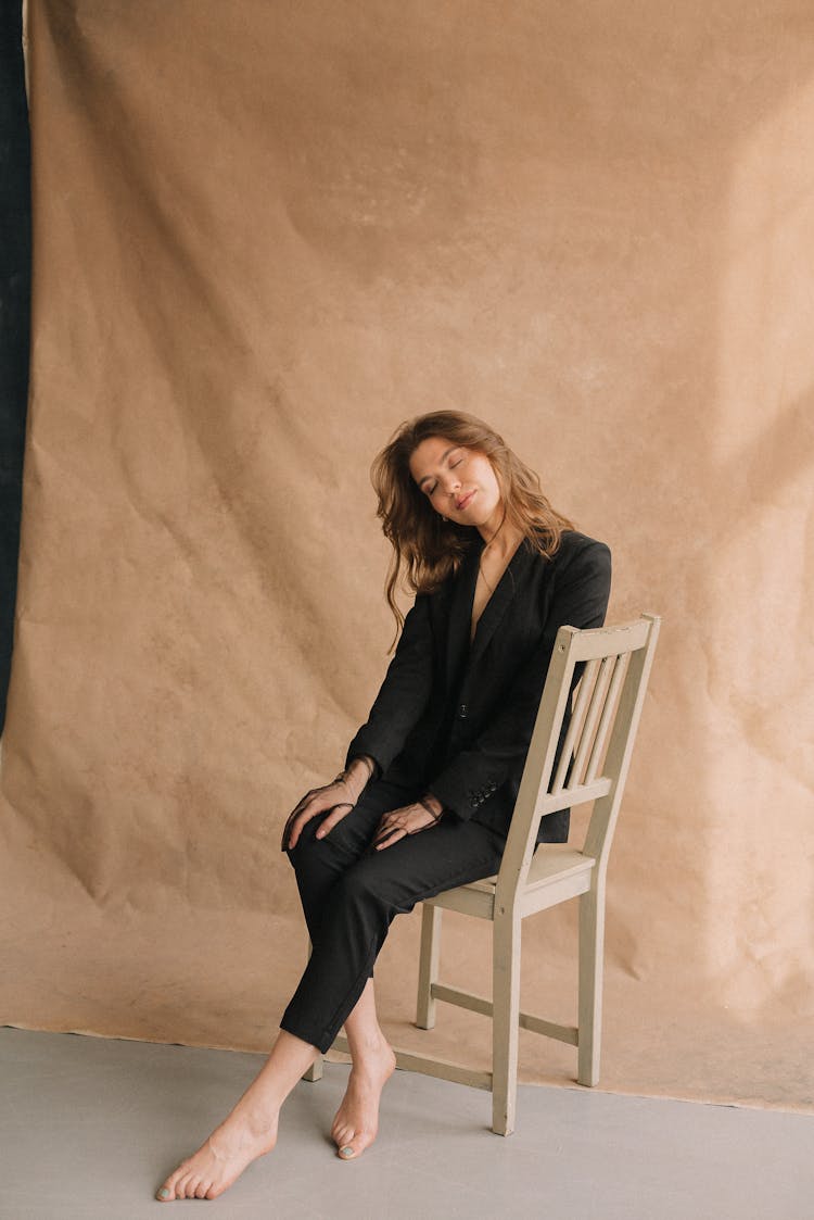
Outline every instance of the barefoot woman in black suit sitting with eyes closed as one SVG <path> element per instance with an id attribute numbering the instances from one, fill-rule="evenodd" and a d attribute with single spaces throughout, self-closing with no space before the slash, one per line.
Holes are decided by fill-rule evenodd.
<path id="1" fill-rule="evenodd" d="M 283 832 L 313 952 L 260 1075 L 158 1198 L 217 1198 L 277 1139 L 279 1110 L 345 1026 L 352 1066 L 338 1154 L 377 1133 L 395 1057 L 373 964 L 392 917 L 495 874 L 563 623 L 604 620 L 610 556 L 574 531 L 487 425 L 436 411 L 402 425 L 373 465 L 392 543 L 386 594 L 416 601 L 345 769 L 302 798 Z M 568 813 L 540 842 L 564 842 Z"/>

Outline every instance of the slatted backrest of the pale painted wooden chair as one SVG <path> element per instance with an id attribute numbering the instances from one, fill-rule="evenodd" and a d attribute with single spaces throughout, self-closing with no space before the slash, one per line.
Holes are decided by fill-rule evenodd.
<path id="1" fill-rule="evenodd" d="M 507 898 L 525 884 L 540 819 L 558 809 L 595 802 L 582 852 L 607 867 L 659 626 L 645 614 L 620 627 L 557 632 L 498 875 Z M 572 699 L 578 665 L 584 670 Z"/>

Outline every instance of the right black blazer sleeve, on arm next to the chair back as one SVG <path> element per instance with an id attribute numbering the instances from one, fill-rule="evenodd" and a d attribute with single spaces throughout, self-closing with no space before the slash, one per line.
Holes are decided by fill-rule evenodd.
<path id="1" fill-rule="evenodd" d="M 523 662 L 500 710 L 474 743 L 457 754 L 428 791 L 445 808 L 468 819 L 501 784 L 519 784 L 557 632 L 563 626 L 601 627 L 610 593 L 610 551 L 591 542 L 557 572 L 540 642 Z"/>

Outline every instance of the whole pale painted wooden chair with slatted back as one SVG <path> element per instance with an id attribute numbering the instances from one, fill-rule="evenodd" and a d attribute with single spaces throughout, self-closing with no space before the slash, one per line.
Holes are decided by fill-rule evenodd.
<path id="1" fill-rule="evenodd" d="M 514 1130 L 519 1028 L 575 1046 L 578 1081 L 589 1086 L 598 1081 L 608 856 L 659 625 L 658 617 L 642 615 L 619 627 L 559 628 L 500 872 L 424 903 L 416 1024 L 433 1028 L 437 1000 L 491 1016 L 492 1070 L 474 1071 L 405 1050 L 396 1050 L 397 1065 L 491 1091 L 497 1135 Z M 572 697 L 574 669 L 581 664 Z M 557 758 L 569 699 L 572 719 Z M 536 845 L 545 814 L 591 800 L 581 849 Z M 520 925 L 529 915 L 578 897 L 579 1015 L 576 1026 L 562 1026 L 520 1010 Z M 492 922 L 491 1000 L 439 982 L 445 908 Z M 347 1050 L 341 1036 L 334 1046 Z M 307 1078 L 320 1075 L 318 1061 Z"/>

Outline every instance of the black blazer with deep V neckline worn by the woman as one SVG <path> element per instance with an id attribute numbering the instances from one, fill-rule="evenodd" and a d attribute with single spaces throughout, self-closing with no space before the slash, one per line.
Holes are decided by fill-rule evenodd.
<path id="1" fill-rule="evenodd" d="M 522 542 L 469 647 L 483 548 L 474 532 L 459 571 L 416 598 L 347 760 L 369 754 L 384 778 L 507 833 L 557 631 L 602 626 L 610 551 L 576 531 L 553 559 Z M 543 817 L 537 841 L 564 842 L 568 819 Z"/>

